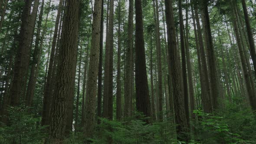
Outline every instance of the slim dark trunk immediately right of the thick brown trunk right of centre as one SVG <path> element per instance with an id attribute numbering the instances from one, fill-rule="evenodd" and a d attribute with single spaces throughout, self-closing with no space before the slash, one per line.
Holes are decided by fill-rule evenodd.
<path id="1" fill-rule="evenodd" d="M 182 0 L 178 1 L 179 7 L 179 24 L 180 24 L 180 36 L 181 36 L 181 61 L 182 61 L 182 78 L 183 78 L 183 92 L 184 92 L 184 106 L 185 114 L 187 118 L 187 126 L 189 127 L 189 106 L 188 106 L 188 87 L 187 87 L 187 65 L 186 65 L 186 50 L 184 42 L 184 23 L 182 14 Z"/>

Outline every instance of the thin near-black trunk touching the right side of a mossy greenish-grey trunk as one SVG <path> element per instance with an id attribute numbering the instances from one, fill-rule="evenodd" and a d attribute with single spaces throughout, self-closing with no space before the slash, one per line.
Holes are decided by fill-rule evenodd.
<path id="1" fill-rule="evenodd" d="M 100 49 L 99 49 L 99 64 L 98 64 L 98 105 L 97 116 L 102 117 L 102 56 L 103 56 L 103 37 L 104 37 L 104 0 L 102 0 L 101 13 L 101 28 L 100 28 Z M 98 124 L 100 121 L 98 120 Z"/>

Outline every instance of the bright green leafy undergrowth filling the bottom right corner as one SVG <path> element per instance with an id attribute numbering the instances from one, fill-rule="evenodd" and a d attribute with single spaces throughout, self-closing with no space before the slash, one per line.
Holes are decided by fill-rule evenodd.
<path id="1" fill-rule="evenodd" d="M 201 110 L 195 110 L 194 113 L 198 117 L 198 123 L 195 126 L 195 138 L 199 140 L 201 143 L 205 144 L 254 144 L 253 135 L 251 137 L 244 137 L 244 131 L 240 131 L 237 129 L 240 124 L 243 124 L 246 118 L 243 118 L 243 115 L 240 111 L 238 111 L 233 118 L 230 118 L 230 115 L 212 115 L 204 113 Z M 243 113 L 244 114 L 244 113 Z M 244 115 L 245 117 L 251 117 L 252 115 L 248 114 Z M 229 117 L 229 118 L 228 118 Z M 240 120 L 241 121 L 240 121 Z M 232 122 L 233 121 L 233 122 Z M 253 122 L 253 119 L 250 119 Z M 248 122 L 248 121 L 247 121 Z M 248 122 L 251 128 L 255 128 L 255 124 L 253 125 L 251 122 Z M 236 125 L 233 125 L 236 123 Z M 254 122 L 255 123 L 255 122 Z M 234 131 L 234 128 L 236 131 Z M 246 129 L 246 131 L 253 131 Z M 255 133 L 255 132 L 254 132 Z M 252 140 L 252 141 L 251 141 Z"/>

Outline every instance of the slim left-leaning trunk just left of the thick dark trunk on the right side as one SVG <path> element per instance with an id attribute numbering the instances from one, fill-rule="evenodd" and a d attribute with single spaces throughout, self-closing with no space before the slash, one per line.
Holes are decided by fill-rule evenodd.
<path id="1" fill-rule="evenodd" d="M 205 91 L 202 91 L 202 103 L 203 103 L 203 111 L 206 113 L 212 112 L 212 101 L 211 101 L 211 90 L 210 90 L 210 82 L 209 82 L 209 75 L 207 70 L 207 62 L 206 62 L 206 54 L 203 46 L 203 36 L 200 26 L 199 14 L 197 5 L 194 5 L 195 10 L 195 17 L 197 22 L 197 34 L 198 34 L 198 41 L 199 41 L 199 48 L 200 48 L 200 56 L 201 56 L 201 63 L 202 63 L 202 82 L 203 82 L 203 89 L 205 85 Z"/>

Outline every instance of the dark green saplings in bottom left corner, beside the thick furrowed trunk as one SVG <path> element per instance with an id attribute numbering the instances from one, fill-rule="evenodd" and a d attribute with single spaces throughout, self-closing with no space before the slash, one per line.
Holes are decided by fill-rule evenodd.
<path id="1" fill-rule="evenodd" d="M 42 127 L 40 117 L 29 114 L 29 108 L 8 108 L 9 124 L 0 127 L 0 144 L 42 144 L 46 127 Z"/>

